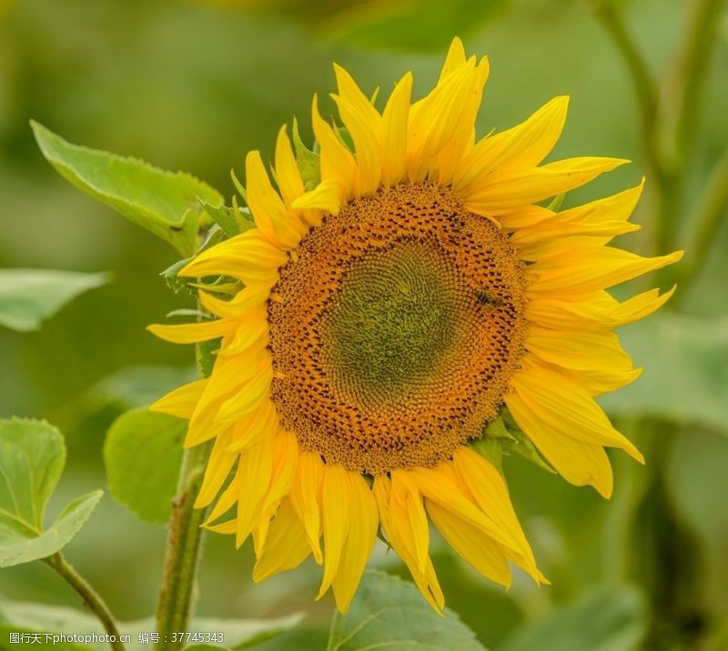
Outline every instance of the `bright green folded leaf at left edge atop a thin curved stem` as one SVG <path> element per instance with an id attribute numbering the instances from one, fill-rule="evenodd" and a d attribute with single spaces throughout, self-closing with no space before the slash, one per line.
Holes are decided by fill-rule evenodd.
<path id="1" fill-rule="evenodd" d="M 45 505 L 66 461 L 63 436 L 42 421 L 0 421 L 0 567 L 52 556 L 76 536 L 102 496 L 76 497 L 43 528 Z"/>

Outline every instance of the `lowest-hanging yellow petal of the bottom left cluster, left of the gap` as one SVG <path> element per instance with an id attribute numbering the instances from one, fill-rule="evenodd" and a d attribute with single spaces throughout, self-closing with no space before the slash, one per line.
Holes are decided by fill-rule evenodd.
<path id="1" fill-rule="evenodd" d="M 379 515 L 377 503 L 371 490 L 360 475 L 351 476 L 349 495 L 340 496 L 351 505 L 349 535 L 341 554 L 339 570 L 334 576 L 332 587 L 340 613 L 349 610 L 349 604 L 357 591 L 359 580 L 367 566 L 371 550 L 377 538 Z"/>

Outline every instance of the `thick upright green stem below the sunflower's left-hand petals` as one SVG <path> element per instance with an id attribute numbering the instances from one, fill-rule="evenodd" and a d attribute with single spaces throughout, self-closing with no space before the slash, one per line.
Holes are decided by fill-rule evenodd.
<path id="1" fill-rule="evenodd" d="M 172 634 L 189 630 L 202 542 L 201 525 L 207 516 L 207 509 L 195 508 L 195 498 L 202 485 L 208 453 L 209 445 L 202 445 L 186 450 L 182 457 L 157 602 L 157 631 L 160 636 L 157 649 L 163 651 L 180 648 L 181 640 L 173 640 Z"/>

